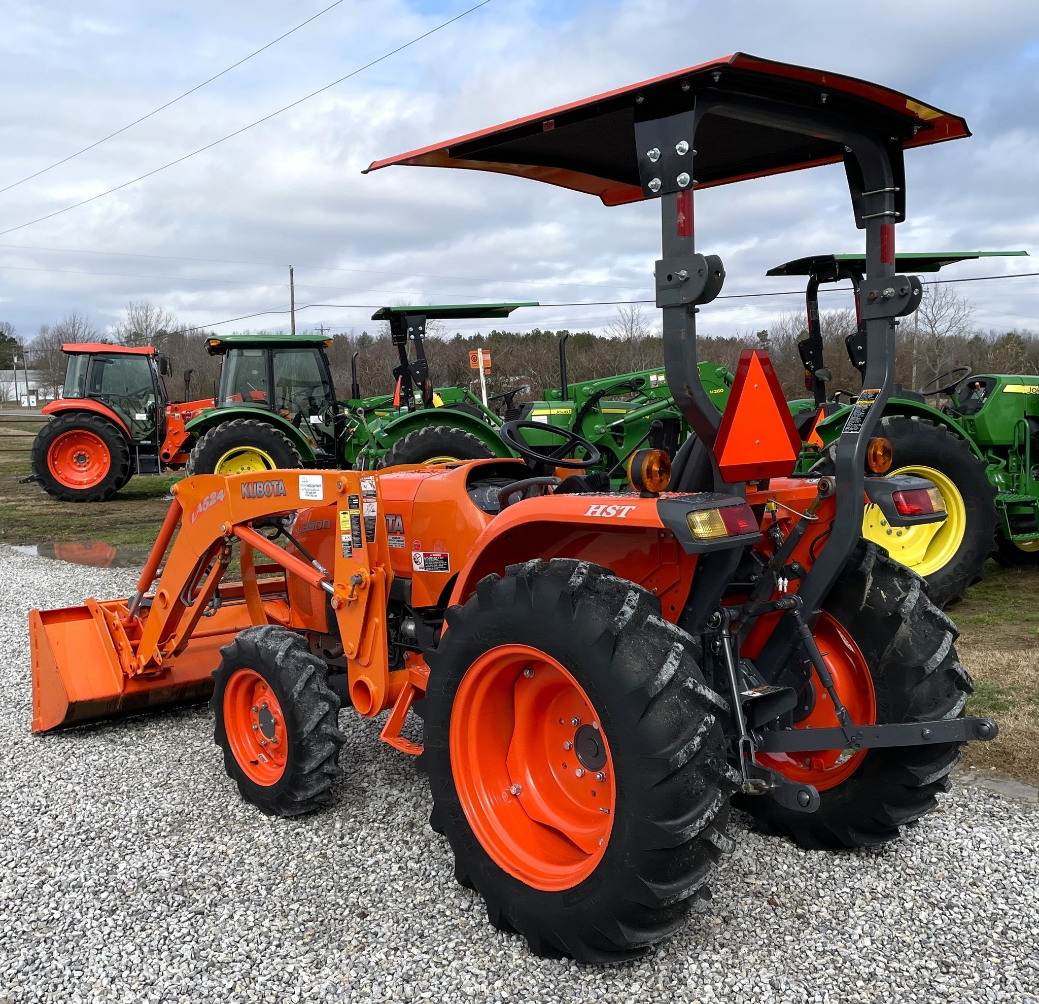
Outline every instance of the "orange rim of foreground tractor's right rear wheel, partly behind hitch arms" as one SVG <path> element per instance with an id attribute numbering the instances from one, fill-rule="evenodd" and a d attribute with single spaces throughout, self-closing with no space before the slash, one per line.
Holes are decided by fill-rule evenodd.
<path id="1" fill-rule="evenodd" d="M 841 703 L 848 709 L 856 725 L 872 725 L 877 721 L 877 698 L 873 677 L 865 657 L 843 625 L 825 611 L 811 633 L 819 645 L 826 668 L 833 678 L 833 687 Z M 795 729 L 832 729 L 841 724 L 833 702 L 815 669 L 811 670 L 815 707 L 807 717 L 794 722 Z M 796 754 L 758 754 L 757 759 L 778 770 L 791 781 L 815 785 L 819 791 L 834 788 L 847 781 L 862 763 L 865 749 L 820 749 Z"/>

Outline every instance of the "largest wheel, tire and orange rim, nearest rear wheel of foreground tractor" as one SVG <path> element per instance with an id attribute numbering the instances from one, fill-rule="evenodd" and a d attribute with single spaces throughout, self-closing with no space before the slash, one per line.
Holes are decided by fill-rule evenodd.
<path id="1" fill-rule="evenodd" d="M 645 589 L 572 559 L 534 560 L 510 565 L 504 577 L 487 576 L 464 606 L 448 610 L 447 622 L 439 645 L 426 654 L 429 684 L 416 710 L 424 719 L 419 767 L 429 777 L 433 797 L 430 825 L 451 843 L 455 876 L 480 893 L 491 924 L 522 934 L 537 955 L 613 962 L 641 954 L 682 925 L 692 897 L 722 852 L 731 849 L 725 826 L 728 797 L 739 778 L 724 759 L 724 702 L 703 682 L 695 642 L 661 618 L 660 602 Z M 543 657 L 535 660 L 536 675 L 532 669 L 528 683 L 521 672 L 524 662 L 515 663 L 500 693 L 501 707 L 507 706 L 508 761 L 506 741 L 496 741 L 494 730 L 480 755 L 465 760 L 483 716 L 453 721 L 454 708 L 469 707 L 468 693 L 488 692 L 483 677 L 476 678 L 482 690 L 464 683 L 468 673 L 481 672 L 486 659 L 528 646 L 531 639 Z M 549 804 L 553 795 L 552 778 L 541 768 L 559 778 L 560 788 L 571 787 L 570 773 L 580 766 L 580 733 L 574 734 L 578 748 L 570 752 L 562 742 L 557 746 L 555 735 L 545 743 L 526 745 L 527 757 L 520 759 L 516 752 L 525 736 L 521 726 L 528 720 L 518 688 L 534 686 L 542 663 L 552 662 L 564 669 L 601 726 L 594 735 L 605 738 L 609 759 L 603 766 L 580 764 L 589 774 L 612 772 L 605 781 L 598 774 L 586 781 L 602 789 L 600 798 L 613 799 L 605 835 L 586 838 L 582 852 L 588 857 L 563 878 L 557 872 L 554 884 L 525 877 L 524 855 L 540 868 L 537 855 L 547 853 L 539 849 L 542 844 L 570 835 L 562 826 L 538 822 L 531 809 Z M 548 671 L 558 672 L 551 666 Z M 556 730 L 555 705 L 552 713 L 549 707 L 536 719 L 544 721 L 545 735 Z M 569 726 L 572 719 L 560 728 Z M 569 761 L 568 771 L 549 749 L 558 750 L 561 762 Z M 511 790 L 508 781 L 504 797 L 499 793 L 495 786 L 506 766 L 522 771 L 529 794 L 524 786 L 518 793 Z M 487 791 L 475 791 L 474 801 L 476 775 L 489 781 Z M 588 794 L 575 790 L 575 798 Z M 510 793 L 518 807 L 513 802 L 509 808 Z M 484 796 L 489 798 L 481 801 Z M 474 804 L 489 808 L 464 808 Z M 491 820 L 489 828 L 481 811 Z M 514 858 L 507 841 L 496 844 L 494 837 L 484 837 L 485 845 L 477 836 L 496 829 L 521 848 Z M 596 848 L 596 838 L 604 837 L 606 843 Z"/>

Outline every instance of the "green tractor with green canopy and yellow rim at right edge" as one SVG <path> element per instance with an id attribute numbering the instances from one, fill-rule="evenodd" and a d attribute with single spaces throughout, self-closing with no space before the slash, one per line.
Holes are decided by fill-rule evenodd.
<path id="1" fill-rule="evenodd" d="M 965 260 L 1025 254 L 908 253 L 897 256 L 896 267 L 931 272 Z M 861 255 L 817 255 L 768 272 L 808 278 L 808 331 L 798 350 L 805 389 L 812 396 L 790 402 L 806 441 L 800 464 L 805 472 L 832 471 L 836 440 L 858 399 L 842 390 L 827 396 L 832 377 L 823 359 L 819 286 L 850 280 L 857 291 L 863 271 Z M 864 372 L 861 332 L 846 343 L 852 365 Z M 947 395 L 950 403 L 928 403 L 938 395 Z M 726 398 L 719 395 L 720 407 Z M 923 576 L 936 604 L 963 599 L 967 587 L 984 576 L 993 548 L 1003 563 L 1039 562 L 1039 376 L 977 376 L 961 366 L 918 390 L 896 385 L 877 437 L 887 441 L 889 450 L 871 453 L 874 473 L 927 478 L 940 492 L 948 517 L 927 527 L 893 528 L 876 506 L 867 506 L 862 535 Z"/>

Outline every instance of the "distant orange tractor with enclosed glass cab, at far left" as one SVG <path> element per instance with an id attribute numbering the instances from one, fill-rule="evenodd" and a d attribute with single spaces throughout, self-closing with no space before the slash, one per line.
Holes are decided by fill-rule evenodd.
<path id="1" fill-rule="evenodd" d="M 185 425 L 213 401 L 167 403 L 168 359 L 152 346 L 103 342 L 61 351 L 69 356 L 61 397 L 44 405 L 51 420 L 33 440 L 27 481 L 62 502 L 104 502 L 135 474 L 187 464 Z"/>

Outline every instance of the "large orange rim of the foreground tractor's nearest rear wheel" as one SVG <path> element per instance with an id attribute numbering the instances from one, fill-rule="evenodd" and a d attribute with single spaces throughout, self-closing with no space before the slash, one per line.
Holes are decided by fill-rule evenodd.
<path id="1" fill-rule="evenodd" d="M 485 652 L 455 694 L 450 742 L 462 811 L 495 864 L 548 892 L 595 870 L 613 824 L 613 761 L 559 662 L 531 645 Z"/>

